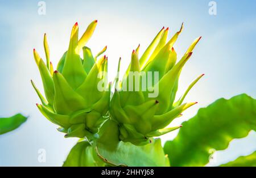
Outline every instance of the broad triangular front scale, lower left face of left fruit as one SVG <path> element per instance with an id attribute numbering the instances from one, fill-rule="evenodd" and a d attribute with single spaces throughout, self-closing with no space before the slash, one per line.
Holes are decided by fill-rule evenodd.
<path id="1" fill-rule="evenodd" d="M 86 108 L 85 100 L 69 86 L 62 74 L 53 73 L 55 98 L 53 107 L 59 114 L 70 115 L 72 112 Z"/>

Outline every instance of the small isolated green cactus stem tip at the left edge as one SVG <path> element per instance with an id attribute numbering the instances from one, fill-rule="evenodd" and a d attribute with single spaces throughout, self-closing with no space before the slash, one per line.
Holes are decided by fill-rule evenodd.
<path id="1" fill-rule="evenodd" d="M 0 135 L 18 128 L 26 120 L 27 117 L 22 116 L 21 114 L 14 115 L 12 117 L 0 118 Z"/>

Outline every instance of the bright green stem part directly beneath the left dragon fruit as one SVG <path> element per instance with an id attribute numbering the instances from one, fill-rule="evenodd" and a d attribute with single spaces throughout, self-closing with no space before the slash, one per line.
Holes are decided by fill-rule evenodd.
<path id="1" fill-rule="evenodd" d="M 97 156 L 95 147 L 87 141 L 81 141 L 69 152 L 64 167 L 105 166 L 105 163 Z"/>

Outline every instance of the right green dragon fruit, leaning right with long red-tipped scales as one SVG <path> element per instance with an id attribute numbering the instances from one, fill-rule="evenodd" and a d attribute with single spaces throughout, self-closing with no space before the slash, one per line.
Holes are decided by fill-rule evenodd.
<path id="1" fill-rule="evenodd" d="M 180 128 L 181 126 L 166 126 L 174 118 L 181 116 L 185 109 L 197 103 L 182 104 L 188 91 L 203 75 L 194 80 L 184 95 L 174 102 L 181 69 L 201 39 L 199 37 L 193 41 L 176 63 L 177 54 L 173 45 L 182 29 L 183 24 L 180 31 L 166 43 L 168 28 L 162 28 L 141 58 L 138 58 L 139 46 L 133 50 L 130 66 L 122 81 L 119 81 L 117 74 L 115 92 L 110 101 L 110 117 L 118 122 L 119 139 L 122 141 L 146 145 L 151 142 L 151 137 Z M 120 60 L 118 73 L 119 66 Z"/>

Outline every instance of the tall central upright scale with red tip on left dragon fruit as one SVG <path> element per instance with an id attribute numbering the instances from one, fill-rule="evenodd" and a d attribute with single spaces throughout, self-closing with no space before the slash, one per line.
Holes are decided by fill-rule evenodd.
<path id="1" fill-rule="evenodd" d="M 76 48 L 78 44 L 78 32 L 79 27 L 76 23 L 72 28 L 69 48 L 65 57 L 62 72 L 63 76 L 73 89 L 78 88 L 86 78 L 86 72 L 84 70 L 84 67 L 82 66 L 81 58 L 79 54 L 76 53 Z"/>

